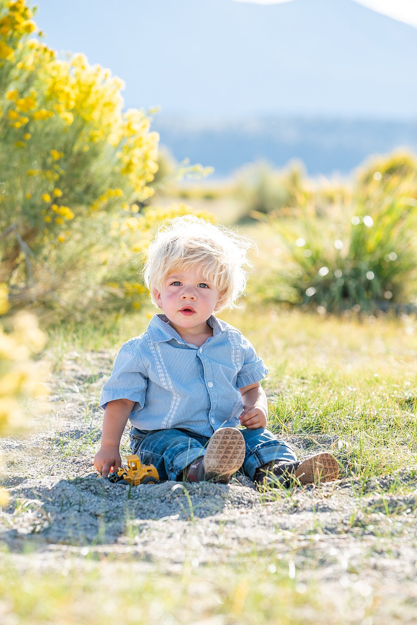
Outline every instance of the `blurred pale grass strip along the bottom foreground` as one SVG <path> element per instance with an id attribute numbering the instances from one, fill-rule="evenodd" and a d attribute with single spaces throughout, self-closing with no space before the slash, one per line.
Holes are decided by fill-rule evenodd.
<path id="1" fill-rule="evenodd" d="M 312 536 L 304 550 L 311 551 L 313 559 L 314 547 Z M 299 553 L 282 557 L 254 549 L 215 569 L 194 559 L 170 574 L 147 572 L 146 563 L 134 558 L 98 557 L 87 548 L 82 553 L 82 564 L 64 557 L 61 570 L 45 571 L 41 576 L 32 568 L 29 554 L 24 571 L 18 571 L 9 556 L 2 554 L 2 622 L 302 625 L 320 619 L 337 624 L 345 622 L 343 611 L 356 606 L 370 615 L 378 604 L 377 596 L 369 602 L 350 592 L 340 593 L 337 602 L 331 596 L 321 597 L 314 581 L 303 581 L 303 572 L 293 559 Z"/>

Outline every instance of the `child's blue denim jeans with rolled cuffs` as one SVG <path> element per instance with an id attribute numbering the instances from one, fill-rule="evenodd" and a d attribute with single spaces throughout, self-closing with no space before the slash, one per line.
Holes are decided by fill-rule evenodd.
<path id="1" fill-rule="evenodd" d="M 271 461 L 295 461 L 297 456 L 286 442 L 279 441 L 269 430 L 242 429 L 246 453 L 243 472 L 253 479 L 255 471 Z M 143 464 L 154 464 L 160 479 L 177 481 L 190 462 L 205 454 L 210 437 L 184 429 L 130 430 L 130 449 Z M 241 470 L 242 470 L 241 469 Z"/>

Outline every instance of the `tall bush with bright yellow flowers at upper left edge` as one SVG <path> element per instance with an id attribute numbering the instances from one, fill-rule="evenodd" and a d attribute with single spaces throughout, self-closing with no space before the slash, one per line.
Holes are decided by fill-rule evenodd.
<path id="1" fill-rule="evenodd" d="M 122 111 L 122 81 L 83 54 L 57 58 L 32 17 L 26 0 L 0 0 L 0 282 L 19 306 L 62 284 L 57 248 L 152 196 L 158 168 L 159 136 Z"/>

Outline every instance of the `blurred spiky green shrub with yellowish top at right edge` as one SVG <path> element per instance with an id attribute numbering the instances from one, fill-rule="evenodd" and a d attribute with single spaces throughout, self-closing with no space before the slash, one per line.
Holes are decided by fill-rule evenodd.
<path id="1" fill-rule="evenodd" d="M 417 159 L 396 153 L 360 169 L 351 199 L 325 213 L 314 193 L 291 214 L 258 212 L 279 249 L 277 273 L 258 283 L 258 298 L 320 312 L 417 304 L 416 197 Z"/>

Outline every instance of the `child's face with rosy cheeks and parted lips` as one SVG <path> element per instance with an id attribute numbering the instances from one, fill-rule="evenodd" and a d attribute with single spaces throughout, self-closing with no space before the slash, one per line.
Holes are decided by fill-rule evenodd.
<path id="1" fill-rule="evenodd" d="M 158 306 L 174 324 L 191 328 L 205 324 L 218 302 L 219 292 L 198 272 L 175 272 L 155 289 Z"/>

